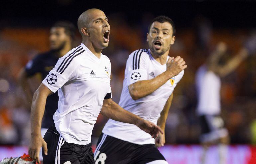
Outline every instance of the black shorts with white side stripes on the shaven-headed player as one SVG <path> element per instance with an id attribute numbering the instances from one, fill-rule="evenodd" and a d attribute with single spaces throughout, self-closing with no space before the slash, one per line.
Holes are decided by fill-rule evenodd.
<path id="1" fill-rule="evenodd" d="M 91 143 L 88 145 L 67 143 L 55 126 L 47 130 L 44 140 L 48 149 L 48 155 L 43 153 L 45 164 L 95 164 Z"/>

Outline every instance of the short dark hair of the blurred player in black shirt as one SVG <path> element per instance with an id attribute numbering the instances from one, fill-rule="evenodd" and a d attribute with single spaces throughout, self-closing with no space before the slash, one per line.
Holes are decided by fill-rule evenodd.
<path id="1" fill-rule="evenodd" d="M 67 35 L 69 35 L 72 39 L 75 38 L 75 25 L 69 21 L 57 21 L 52 27 L 63 27 Z"/>

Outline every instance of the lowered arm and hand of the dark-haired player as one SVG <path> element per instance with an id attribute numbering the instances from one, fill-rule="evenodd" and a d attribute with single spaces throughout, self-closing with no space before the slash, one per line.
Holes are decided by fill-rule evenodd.
<path id="1" fill-rule="evenodd" d="M 166 123 L 169 109 L 172 104 L 172 100 L 173 100 L 173 93 L 167 99 L 165 106 L 164 106 L 163 110 L 161 111 L 160 117 L 157 121 L 157 125 L 163 130 L 164 133 L 159 134 L 159 136 L 157 138 L 155 138 L 156 147 L 161 147 L 161 146 L 164 146 L 164 144 L 165 144 L 165 123 Z"/>

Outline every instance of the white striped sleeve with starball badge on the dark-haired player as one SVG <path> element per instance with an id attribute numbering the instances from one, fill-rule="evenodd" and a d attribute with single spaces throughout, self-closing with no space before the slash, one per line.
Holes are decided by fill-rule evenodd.
<path id="1" fill-rule="evenodd" d="M 140 80 L 148 80 L 145 53 L 144 50 L 137 50 L 129 55 L 125 68 L 128 86 Z"/>

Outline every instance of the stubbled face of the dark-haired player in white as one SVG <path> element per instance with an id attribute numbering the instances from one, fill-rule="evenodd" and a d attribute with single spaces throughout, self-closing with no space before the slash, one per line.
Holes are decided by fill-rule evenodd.
<path id="1" fill-rule="evenodd" d="M 166 51 L 169 51 L 174 40 L 173 28 L 169 22 L 152 23 L 149 33 L 147 34 L 147 41 L 151 53 L 158 56 L 163 55 Z"/>

